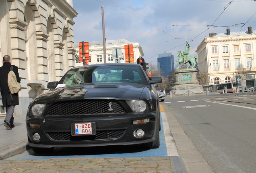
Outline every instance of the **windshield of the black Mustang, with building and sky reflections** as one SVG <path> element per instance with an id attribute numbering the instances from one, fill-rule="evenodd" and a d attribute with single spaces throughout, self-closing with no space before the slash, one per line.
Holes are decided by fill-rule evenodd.
<path id="1" fill-rule="evenodd" d="M 70 69 L 60 80 L 58 87 L 120 82 L 147 84 L 145 76 L 138 66 L 83 66 Z"/>

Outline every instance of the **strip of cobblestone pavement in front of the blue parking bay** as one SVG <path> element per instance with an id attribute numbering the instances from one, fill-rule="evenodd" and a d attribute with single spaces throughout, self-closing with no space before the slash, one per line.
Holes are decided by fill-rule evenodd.
<path id="1" fill-rule="evenodd" d="M 0 161 L 0 173 L 173 173 L 171 157 Z"/>

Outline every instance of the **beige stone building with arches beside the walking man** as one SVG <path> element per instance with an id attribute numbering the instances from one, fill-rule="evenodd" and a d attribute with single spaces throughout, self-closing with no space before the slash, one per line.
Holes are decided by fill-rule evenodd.
<path id="1" fill-rule="evenodd" d="M 72 0 L 0 1 L 0 56 L 10 55 L 21 77 L 20 105 L 14 116 L 26 115 L 29 102 L 48 91 L 47 82 L 59 80 L 75 66 L 73 18 L 77 14 Z"/>

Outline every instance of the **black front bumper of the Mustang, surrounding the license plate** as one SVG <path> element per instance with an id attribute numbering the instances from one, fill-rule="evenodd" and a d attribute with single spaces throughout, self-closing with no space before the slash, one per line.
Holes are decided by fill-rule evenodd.
<path id="1" fill-rule="evenodd" d="M 149 123 L 133 124 L 135 120 L 147 119 Z M 96 135 L 71 135 L 71 123 L 95 122 Z M 27 135 L 31 147 L 91 147 L 106 145 L 132 145 L 155 141 L 155 113 L 128 113 L 114 117 L 47 116 L 26 119 Z M 32 128 L 29 124 L 39 124 Z M 142 138 L 134 137 L 134 131 L 142 129 Z M 33 135 L 38 133 L 36 141 Z"/>

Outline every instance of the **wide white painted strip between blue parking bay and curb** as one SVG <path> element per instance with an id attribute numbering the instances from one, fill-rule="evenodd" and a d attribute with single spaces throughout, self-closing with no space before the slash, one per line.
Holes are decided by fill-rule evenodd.
<path id="1" fill-rule="evenodd" d="M 171 136 L 171 130 L 169 128 L 169 124 L 167 121 L 167 117 L 165 112 L 161 112 L 162 122 L 163 122 L 163 132 L 165 135 L 165 144 L 167 149 L 167 156 L 180 156 L 178 153 L 178 149 L 174 142 L 173 137 Z"/>

